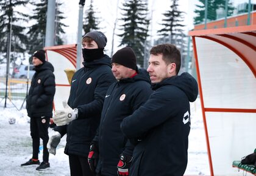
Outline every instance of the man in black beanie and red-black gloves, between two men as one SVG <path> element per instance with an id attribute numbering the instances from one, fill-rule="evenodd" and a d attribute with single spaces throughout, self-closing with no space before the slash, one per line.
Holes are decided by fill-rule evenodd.
<path id="1" fill-rule="evenodd" d="M 122 134 L 120 123 L 152 93 L 149 75 L 146 70 L 137 69 L 136 61 L 130 47 L 124 47 L 112 56 L 116 82 L 107 90 L 99 130 L 88 155 L 91 170 L 101 176 L 129 175 L 133 144 Z"/>

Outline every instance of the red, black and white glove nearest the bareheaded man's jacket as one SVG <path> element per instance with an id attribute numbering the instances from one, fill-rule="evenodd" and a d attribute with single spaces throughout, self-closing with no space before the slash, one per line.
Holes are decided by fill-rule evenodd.
<path id="1" fill-rule="evenodd" d="M 131 163 L 132 156 L 121 154 L 118 162 L 118 175 L 128 176 Z"/>

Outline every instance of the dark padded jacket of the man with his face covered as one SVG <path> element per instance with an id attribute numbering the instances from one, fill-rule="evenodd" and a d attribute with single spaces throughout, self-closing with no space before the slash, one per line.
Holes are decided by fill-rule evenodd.
<path id="1" fill-rule="evenodd" d="M 83 64 L 84 67 L 74 73 L 68 98 L 68 105 L 78 109 L 78 118 L 54 130 L 67 135 L 65 154 L 87 157 L 99 126 L 105 94 L 115 77 L 107 55 Z"/>

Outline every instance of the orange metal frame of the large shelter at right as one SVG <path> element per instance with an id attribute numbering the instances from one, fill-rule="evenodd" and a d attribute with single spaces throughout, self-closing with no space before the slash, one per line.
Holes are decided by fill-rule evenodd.
<path id="1" fill-rule="evenodd" d="M 196 72 L 197 72 L 197 78 L 198 78 L 199 93 L 201 96 L 202 116 L 203 116 L 203 121 L 204 121 L 205 138 L 206 138 L 206 142 L 207 142 L 208 161 L 209 161 L 209 165 L 210 165 L 210 174 L 211 175 L 214 175 L 214 172 L 213 172 L 212 154 L 211 154 L 211 150 L 210 150 L 210 141 L 209 141 L 209 136 L 208 136 L 205 112 L 256 113 L 256 109 L 209 108 L 209 107 L 204 106 L 204 95 L 202 93 L 201 75 L 200 75 L 199 62 L 198 62 L 197 49 L 196 49 L 196 37 L 210 39 L 210 40 L 218 42 L 219 44 L 226 46 L 227 48 L 232 50 L 238 56 L 240 56 L 241 59 L 243 59 L 243 61 L 247 64 L 249 69 L 251 69 L 252 73 L 256 77 L 256 69 L 255 69 L 256 66 L 255 66 L 255 63 L 253 63 L 252 61 L 251 61 L 252 64 L 250 63 L 250 61 L 248 61 L 250 58 L 247 58 L 243 54 L 243 52 L 241 52 L 240 50 L 235 49 L 235 47 L 233 47 L 232 44 L 227 44 L 226 42 L 222 41 L 221 39 L 214 38 L 214 35 L 222 36 L 224 38 L 231 38 L 235 41 L 240 42 L 241 44 L 246 45 L 247 47 L 254 50 L 256 53 L 256 50 L 255 50 L 256 47 L 254 44 L 251 44 L 250 42 L 247 42 L 244 39 L 236 38 L 235 36 L 226 35 L 227 33 L 244 33 L 244 34 L 249 34 L 251 36 L 256 36 L 255 32 L 256 32 L 256 25 L 242 26 L 242 27 L 230 27 L 230 28 L 225 28 L 225 29 L 195 30 L 195 31 L 191 31 L 189 33 L 189 35 L 192 36 L 192 41 L 193 41 L 194 58 L 195 58 L 195 63 L 196 63 Z M 255 57 L 255 55 L 253 57 Z"/>

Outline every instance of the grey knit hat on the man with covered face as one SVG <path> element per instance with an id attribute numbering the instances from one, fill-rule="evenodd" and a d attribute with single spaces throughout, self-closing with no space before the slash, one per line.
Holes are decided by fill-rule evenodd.
<path id="1" fill-rule="evenodd" d="M 86 33 L 83 38 L 86 36 L 92 38 L 96 44 L 98 44 L 99 49 L 104 49 L 107 44 L 107 37 L 102 32 L 94 30 L 92 32 Z"/>

